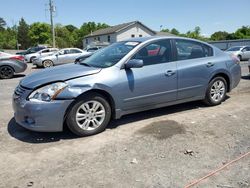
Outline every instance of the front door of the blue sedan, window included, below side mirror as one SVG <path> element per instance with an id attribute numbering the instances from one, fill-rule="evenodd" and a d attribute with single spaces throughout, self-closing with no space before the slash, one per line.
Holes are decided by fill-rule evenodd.
<path id="1" fill-rule="evenodd" d="M 175 101 L 177 97 L 176 62 L 172 62 L 170 40 L 153 42 L 132 59 L 143 60 L 142 68 L 120 70 L 119 92 L 122 110 L 133 110 Z"/>

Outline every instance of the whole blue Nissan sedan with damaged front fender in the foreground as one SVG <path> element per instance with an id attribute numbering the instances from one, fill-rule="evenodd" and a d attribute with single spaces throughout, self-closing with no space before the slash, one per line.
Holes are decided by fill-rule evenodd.
<path id="1" fill-rule="evenodd" d="M 125 114 L 195 100 L 218 105 L 240 78 L 238 58 L 207 43 L 133 38 L 25 77 L 13 95 L 14 116 L 34 131 L 62 131 L 65 123 L 93 135 Z"/>

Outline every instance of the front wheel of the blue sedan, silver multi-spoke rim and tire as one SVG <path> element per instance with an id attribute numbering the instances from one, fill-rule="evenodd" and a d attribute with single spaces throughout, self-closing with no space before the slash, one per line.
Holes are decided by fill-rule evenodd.
<path id="1" fill-rule="evenodd" d="M 75 101 L 66 123 L 76 135 L 89 136 L 105 130 L 110 118 L 111 107 L 105 97 L 91 93 Z"/>

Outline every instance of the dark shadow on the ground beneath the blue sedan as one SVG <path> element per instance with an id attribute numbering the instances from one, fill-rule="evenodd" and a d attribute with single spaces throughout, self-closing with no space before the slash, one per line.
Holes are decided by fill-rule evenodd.
<path id="1" fill-rule="evenodd" d="M 229 98 L 230 97 L 227 96 L 226 100 Z M 121 119 L 111 121 L 107 129 L 115 129 L 119 126 L 123 126 L 128 123 L 150 119 L 154 117 L 159 117 L 163 115 L 168 115 L 168 114 L 179 113 L 182 111 L 199 109 L 199 108 L 208 108 L 208 107 L 201 101 L 195 101 L 195 102 L 183 103 L 179 105 L 168 106 L 164 108 L 130 114 L 130 115 L 123 116 Z M 79 138 L 78 136 L 71 133 L 69 129 L 67 128 L 67 126 L 64 126 L 64 127 L 65 128 L 63 132 L 57 132 L 57 133 L 34 132 L 34 131 L 29 131 L 21 127 L 20 125 L 16 123 L 15 119 L 12 118 L 8 123 L 8 133 L 12 137 L 16 138 L 17 140 L 20 140 L 22 142 L 27 142 L 27 143 L 33 143 L 33 144 L 57 142 L 60 140 Z"/>

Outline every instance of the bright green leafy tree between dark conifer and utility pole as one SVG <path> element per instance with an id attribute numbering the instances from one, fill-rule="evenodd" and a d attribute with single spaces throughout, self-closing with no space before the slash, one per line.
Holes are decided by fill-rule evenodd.
<path id="1" fill-rule="evenodd" d="M 36 22 L 30 25 L 28 33 L 32 45 L 51 44 L 50 25 Z"/>

